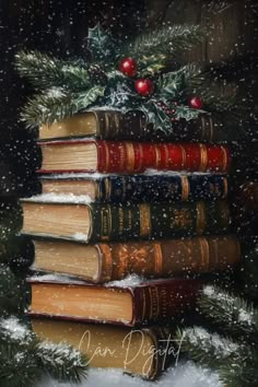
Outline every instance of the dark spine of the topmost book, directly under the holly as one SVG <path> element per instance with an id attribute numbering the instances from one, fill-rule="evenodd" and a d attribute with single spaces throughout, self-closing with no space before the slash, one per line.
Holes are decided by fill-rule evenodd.
<path id="1" fill-rule="evenodd" d="M 126 114 L 116 110 L 95 110 L 97 137 L 102 140 L 129 141 L 225 141 L 220 122 L 208 115 L 187 121 L 184 118 L 172 122 L 169 132 L 164 132 L 148 121 L 140 110 Z"/>

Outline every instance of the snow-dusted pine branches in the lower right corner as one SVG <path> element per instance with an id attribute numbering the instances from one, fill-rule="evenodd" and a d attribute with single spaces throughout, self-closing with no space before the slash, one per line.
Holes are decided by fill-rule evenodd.
<path id="1" fill-rule="evenodd" d="M 180 351 L 215 370 L 228 387 L 257 386 L 258 308 L 213 285 L 203 288 L 198 308 L 203 327 L 177 331 Z"/>

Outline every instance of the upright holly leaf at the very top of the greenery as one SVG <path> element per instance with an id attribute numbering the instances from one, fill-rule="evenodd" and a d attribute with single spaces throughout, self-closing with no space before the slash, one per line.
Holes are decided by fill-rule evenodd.
<path id="1" fill-rule="evenodd" d="M 89 28 L 87 48 L 92 54 L 93 61 L 107 66 L 115 56 L 116 43 L 112 35 L 104 31 L 98 23 L 94 28 Z"/>

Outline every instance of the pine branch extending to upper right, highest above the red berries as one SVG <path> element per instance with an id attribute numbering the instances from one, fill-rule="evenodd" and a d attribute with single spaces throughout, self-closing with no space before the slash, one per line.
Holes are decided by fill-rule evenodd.
<path id="1" fill-rule="evenodd" d="M 200 42 L 202 34 L 198 25 L 175 25 L 152 30 L 138 36 L 133 42 L 121 48 L 121 56 L 141 59 L 144 56 L 167 55 L 189 49 Z"/>

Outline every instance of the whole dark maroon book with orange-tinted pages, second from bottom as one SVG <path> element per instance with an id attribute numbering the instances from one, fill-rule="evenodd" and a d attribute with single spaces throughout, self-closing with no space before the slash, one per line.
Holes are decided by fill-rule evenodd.
<path id="1" fill-rule="evenodd" d="M 197 279 L 132 279 L 92 284 L 64 277 L 27 279 L 32 286 L 28 314 L 134 327 L 173 321 L 195 308 Z"/>

